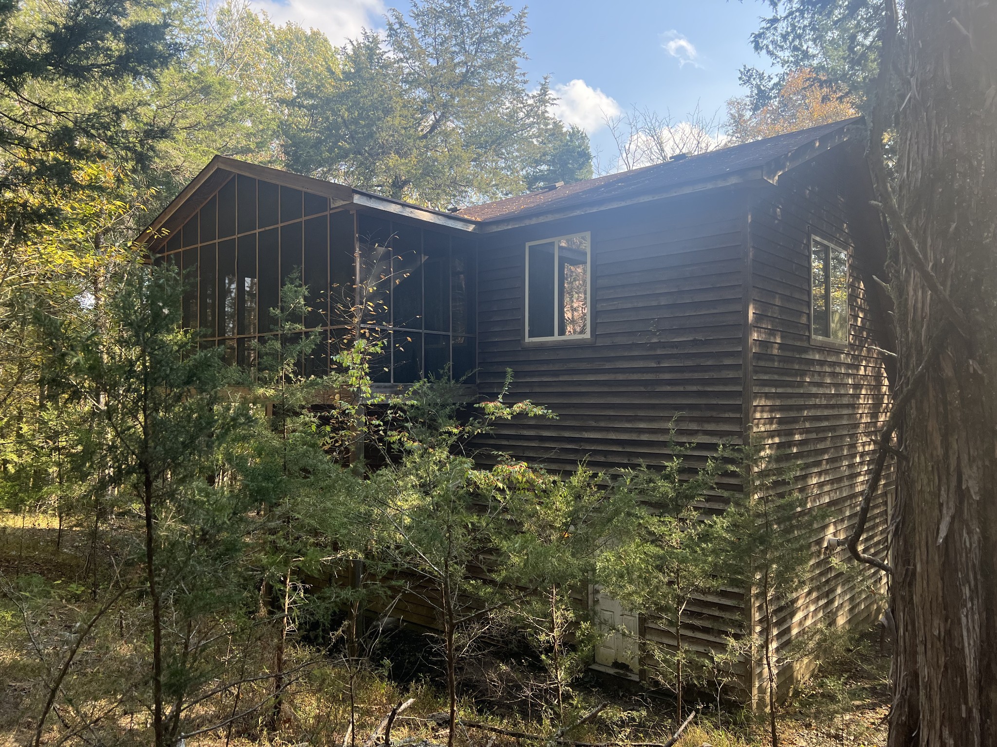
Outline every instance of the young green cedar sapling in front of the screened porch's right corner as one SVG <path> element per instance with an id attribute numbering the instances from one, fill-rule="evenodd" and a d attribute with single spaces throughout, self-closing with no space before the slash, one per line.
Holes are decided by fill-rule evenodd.
<path id="1" fill-rule="evenodd" d="M 508 382 L 506 382 L 506 389 Z M 525 464 L 493 470 L 478 467 L 468 441 L 498 419 L 550 416 L 529 401 L 505 404 L 502 397 L 478 405 L 480 416 L 462 422 L 460 384 L 446 378 L 417 383 L 398 402 L 400 419 L 388 436 L 389 463 L 374 472 L 372 495 L 385 562 L 408 577 L 408 591 L 432 610 L 442 629 L 453 747 L 457 721 L 459 635 L 475 622 L 524 594 L 497 583 L 508 564 L 514 531 L 503 499 L 509 481 Z"/>

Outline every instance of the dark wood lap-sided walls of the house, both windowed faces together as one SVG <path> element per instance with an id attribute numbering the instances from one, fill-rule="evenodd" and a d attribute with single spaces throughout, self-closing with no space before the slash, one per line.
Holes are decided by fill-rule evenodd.
<path id="1" fill-rule="evenodd" d="M 827 538 L 844 536 L 853 521 L 889 403 L 883 355 L 874 350 L 886 347 L 883 322 L 867 293 L 875 237 L 853 220 L 849 199 L 858 198 L 842 186 L 855 181 L 848 167 L 831 151 L 784 174 L 779 186 L 717 190 L 483 236 L 479 389 L 497 393 L 511 369 L 510 399 L 528 397 L 559 415 L 503 424 L 485 445 L 552 468 L 587 460 L 612 470 L 666 458 L 675 416 L 678 437 L 699 443 L 700 455 L 721 441 L 740 442 L 751 424 L 765 443 L 803 463 L 797 487 L 812 505 L 831 509 L 831 522 L 815 537 L 821 558 Z M 811 342 L 812 230 L 851 256 L 843 350 Z M 576 231 L 591 232 L 593 340 L 525 344 L 524 245 Z M 867 532 L 866 549 L 880 556 L 892 490 L 888 468 Z M 879 609 L 879 599 L 827 558 L 814 565 L 813 588 L 780 611 L 781 643 L 811 624 L 864 622 Z M 751 608 L 738 590 L 703 600 L 690 609 L 683 635 L 701 649 L 722 645 L 723 633 Z M 653 621 L 646 633 L 663 642 L 674 637 Z M 747 678 L 757 692 L 759 672 Z"/>

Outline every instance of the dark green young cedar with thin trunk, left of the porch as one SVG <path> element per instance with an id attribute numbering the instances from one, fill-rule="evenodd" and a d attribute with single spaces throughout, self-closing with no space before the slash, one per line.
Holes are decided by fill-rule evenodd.
<path id="1" fill-rule="evenodd" d="M 136 645 L 148 668 L 120 689 L 148 703 L 155 744 L 166 747 L 183 736 L 205 697 L 198 691 L 222 674 L 219 640 L 246 622 L 248 505 L 220 457 L 247 418 L 220 396 L 215 352 L 197 352 L 179 330 L 175 274 L 136 263 L 115 280 L 95 307 L 103 324 L 52 328 L 60 363 L 47 383 L 62 392 L 60 405 L 92 415 L 91 463 L 103 475 L 95 487 L 137 525 L 118 537 L 120 583 L 146 611 Z"/>

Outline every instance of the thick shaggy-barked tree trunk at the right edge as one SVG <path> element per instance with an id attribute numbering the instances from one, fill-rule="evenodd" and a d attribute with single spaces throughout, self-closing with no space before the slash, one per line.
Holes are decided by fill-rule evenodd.
<path id="1" fill-rule="evenodd" d="M 904 13 L 897 201 L 970 337 L 946 334 L 899 431 L 889 745 L 984 747 L 997 744 L 997 3 Z M 902 385 L 946 317 L 911 257 L 893 259 Z"/>

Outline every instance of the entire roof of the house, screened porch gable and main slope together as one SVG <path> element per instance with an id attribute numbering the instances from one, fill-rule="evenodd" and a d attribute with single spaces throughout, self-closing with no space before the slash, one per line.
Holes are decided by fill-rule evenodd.
<path id="1" fill-rule="evenodd" d="M 759 179 L 775 183 L 783 172 L 853 139 L 862 131 L 861 118 L 822 124 L 700 155 L 675 157 L 652 166 L 472 205 L 455 212 L 442 212 L 344 184 L 216 155 L 137 241 L 152 243 L 162 236 L 163 228 L 175 231 L 222 183 L 237 173 L 327 196 L 333 207 L 350 204 L 371 207 L 441 226 L 485 233 L 728 184 Z"/>

